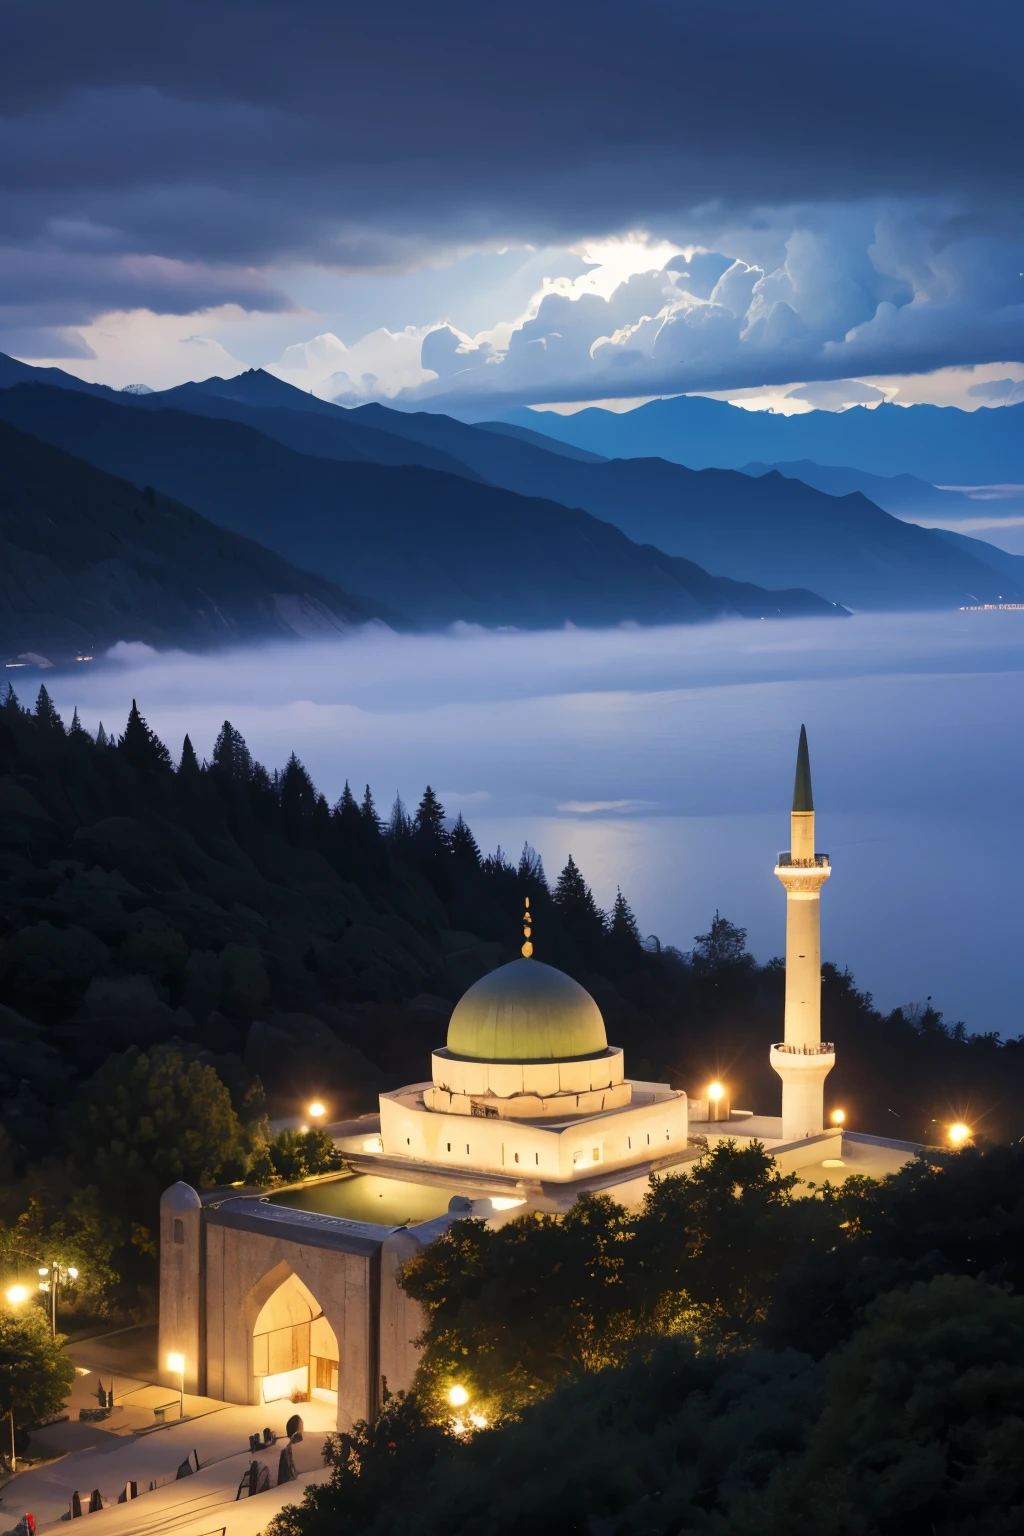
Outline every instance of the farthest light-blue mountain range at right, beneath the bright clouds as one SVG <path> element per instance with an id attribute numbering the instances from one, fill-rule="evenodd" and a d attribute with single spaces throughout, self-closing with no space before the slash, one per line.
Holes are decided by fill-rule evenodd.
<path id="1" fill-rule="evenodd" d="M 691 468 L 812 459 L 933 485 L 1024 484 L 1024 402 L 998 409 L 852 406 L 795 416 L 680 395 L 636 410 L 573 416 L 517 409 L 507 421 L 616 458 L 663 458 Z"/>

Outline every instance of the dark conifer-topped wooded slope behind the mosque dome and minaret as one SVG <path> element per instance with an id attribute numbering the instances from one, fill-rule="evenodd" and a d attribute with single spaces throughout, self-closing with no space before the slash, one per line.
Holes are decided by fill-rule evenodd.
<path id="1" fill-rule="evenodd" d="M 778 1103 L 766 1043 L 778 1034 L 783 974 L 777 962 L 758 966 L 743 929 L 720 914 L 682 954 L 642 938 L 622 892 L 605 914 L 573 859 L 550 885 L 528 846 L 517 862 L 482 854 L 433 788 L 411 814 L 396 800 L 384 822 L 370 786 L 345 785 L 330 806 L 298 757 L 269 771 L 227 720 L 209 763 L 186 737 L 175 770 L 137 703 L 120 737 L 94 742 L 66 730 L 45 688 L 34 710 L 6 690 L 0 1220 L 14 1224 L 46 1190 L 74 1195 L 83 1221 L 83 1189 L 100 1207 L 121 1201 L 117 1181 L 100 1177 L 98 1150 L 72 1158 L 72 1137 L 98 1091 L 114 1095 L 97 1114 L 100 1134 L 107 1147 L 121 1143 L 118 1083 L 141 1058 L 152 1068 L 172 1052 L 186 1075 L 215 1074 L 244 1132 L 246 1177 L 259 1081 L 273 1114 L 316 1095 L 345 1115 L 419 1078 L 447 1009 L 519 952 L 525 894 L 537 957 L 594 994 L 633 1075 L 691 1092 L 725 1075 L 734 1103 Z M 823 982 L 824 1031 L 838 1044 L 829 1095 L 851 1124 L 933 1140 L 955 1094 L 979 1130 L 1024 1132 L 1018 1041 L 967 1037 L 930 1009 L 881 1015 L 829 965 Z M 197 1178 L 241 1166 L 232 1135 Z M 111 1221 L 137 1287 L 157 1183 Z M 129 1206 L 138 1230 L 124 1241 Z"/>

